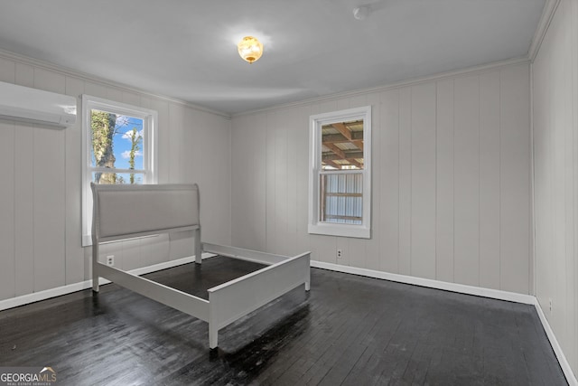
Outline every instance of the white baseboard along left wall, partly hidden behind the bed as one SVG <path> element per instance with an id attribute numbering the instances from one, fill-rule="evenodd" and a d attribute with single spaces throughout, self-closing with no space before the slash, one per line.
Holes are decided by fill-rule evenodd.
<path id="1" fill-rule="evenodd" d="M 215 256 L 212 253 L 203 253 L 202 259 L 208 259 Z M 144 275 L 147 273 L 155 272 L 158 270 L 172 268 L 181 266 L 182 264 L 188 264 L 195 260 L 194 256 L 182 259 L 176 259 L 171 261 L 165 261 L 163 263 L 154 264 L 152 266 L 144 267 L 144 268 L 135 268 L 128 272 L 134 275 Z M 98 280 L 99 285 L 104 285 L 110 283 L 109 280 L 105 278 L 100 278 Z M 46 289 L 44 291 L 34 292 L 33 294 L 23 295 L 21 297 L 11 297 L 9 299 L 0 300 L 0 311 L 14 308 L 17 306 L 24 306 L 30 303 L 38 302 L 41 300 L 50 299 L 51 297 L 60 297 L 62 295 L 71 294 L 72 292 L 81 291 L 83 289 L 88 289 L 92 287 L 92 280 L 85 280 L 79 283 L 69 284 L 67 286 L 56 287 L 51 289 Z"/>

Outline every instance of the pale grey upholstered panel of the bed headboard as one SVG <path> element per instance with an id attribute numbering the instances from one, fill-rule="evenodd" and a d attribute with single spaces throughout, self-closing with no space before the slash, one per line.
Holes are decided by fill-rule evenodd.
<path id="1" fill-rule="evenodd" d="M 92 242 L 200 229 L 197 184 L 107 185 L 92 188 Z"/>

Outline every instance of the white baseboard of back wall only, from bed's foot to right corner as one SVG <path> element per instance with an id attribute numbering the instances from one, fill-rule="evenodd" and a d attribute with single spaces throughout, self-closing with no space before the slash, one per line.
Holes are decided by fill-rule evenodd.
<path id="1" fill-rule="evenodd" d="M 412 276 L 398 275 L 366 268 L 355 268 L 349 266 L 340 266 L 339 264 L 324 263 L 322 261 L 312 261 L 311 266 L 314 268 L 330 269 L 334 271 L 351 273 L 354 275 L 365 276 L 368 278 L 382 278 L 385 280 L 396 281 L 398 283 L 413 284 L 415 286 L 430 287 L 443 289 L 445 291 L 459 292 L 461 294 L 475 295 L 477 297 L 491 297 L 493 299 L 508 300 L 509 302 L 523 303 L 534 305 L 536 297 L 526 294 L 517 294 L 516 292 L 500 291 L 498 289 L 481 288 L 466 286 L 464 284 L 448 283 L 431 278 L 415 278 Z"/>

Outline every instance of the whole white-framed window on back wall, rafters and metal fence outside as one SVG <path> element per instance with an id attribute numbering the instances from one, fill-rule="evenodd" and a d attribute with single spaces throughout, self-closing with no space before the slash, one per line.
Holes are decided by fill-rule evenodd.
<path id="1" fill-rule="evenodd" d="M 309 232 L 369 239 L 371 106 L 311 117 Z"/>

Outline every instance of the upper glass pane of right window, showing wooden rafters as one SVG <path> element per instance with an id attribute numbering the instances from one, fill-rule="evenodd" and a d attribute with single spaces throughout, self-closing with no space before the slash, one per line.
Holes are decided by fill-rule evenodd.
<path id="1" fill-rule="evenodd" d="M 322 170 L 363 169 L 363 120 L 322 126 Z"/>

